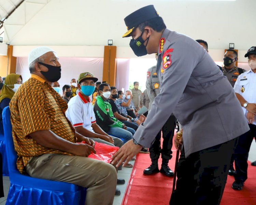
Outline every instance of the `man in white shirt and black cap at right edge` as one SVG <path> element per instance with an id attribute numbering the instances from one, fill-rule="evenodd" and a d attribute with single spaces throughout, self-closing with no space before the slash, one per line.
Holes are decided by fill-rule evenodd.
<path id="1" fill-rule="evenodd" d="M 234 91 L 247 118 L 250 130 L 239 137 L 234 150 L 237 174 L 234 175 L 235 181 L 232 188 L 236 190 L 242 190 L 247 179 L 248 154 L 253 138 L 256 137 L 256 47 L 253 46 L 248 49 L 244 57 L 248 57 L 248 64 L 251 69 L 237 78 Z"/>

